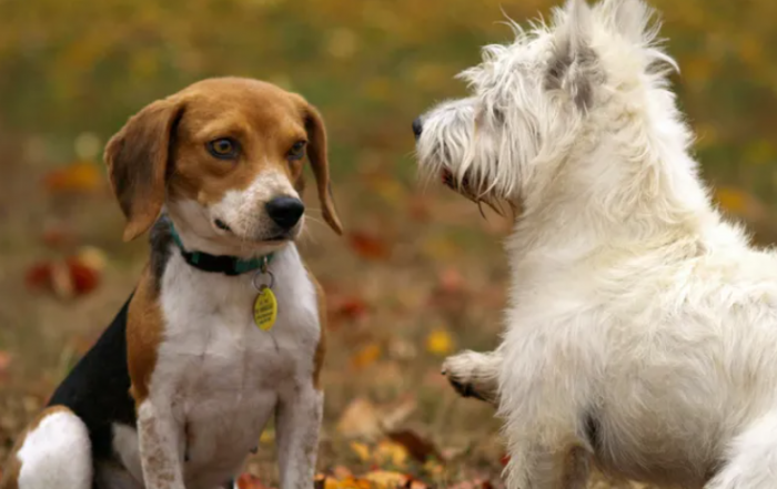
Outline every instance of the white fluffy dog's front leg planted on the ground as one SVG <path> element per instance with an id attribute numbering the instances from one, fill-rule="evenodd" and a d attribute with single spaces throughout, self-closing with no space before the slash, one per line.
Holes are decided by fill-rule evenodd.
<path id="1" fill-rule="evenodd" d="M 597 365 L 576 329 L 508 330 L 498 350 L 498 416 L 507 436 L 508 489 L 584 488 L 598 446 Z"/>

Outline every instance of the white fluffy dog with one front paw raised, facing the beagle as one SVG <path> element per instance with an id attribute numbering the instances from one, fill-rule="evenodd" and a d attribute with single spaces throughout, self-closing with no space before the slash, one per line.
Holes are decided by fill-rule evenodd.
<path id="1" fill-rule="evenodd" d="M 592 461 L 777 487 L 777 256 L 710 203 L 650 16 L 572 0 L 413 124 L 422 170 L 517 212 L 504 340 L 444 367 L 498 404 L 509 488 L 581 488 Z"/>

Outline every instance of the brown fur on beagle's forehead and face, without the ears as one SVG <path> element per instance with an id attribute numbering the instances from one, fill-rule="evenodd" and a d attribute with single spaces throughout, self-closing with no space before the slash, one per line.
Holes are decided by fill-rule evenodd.
<path id="1" fill-rule="evenodd" d="M 246 189 L 268 170 L 295 183 L 302 161 L 289 160 L 299 141 L 307 141 L 301 98 L 275 85 L 248 79 L 212 79 L 174 95 L 186 105 L 172 154 L 173 198 L 203 205 L 221 201 L 231 190 Z M 208 143 L 230 137 L 240 147 L 234 159 L 220 160 Z"/>

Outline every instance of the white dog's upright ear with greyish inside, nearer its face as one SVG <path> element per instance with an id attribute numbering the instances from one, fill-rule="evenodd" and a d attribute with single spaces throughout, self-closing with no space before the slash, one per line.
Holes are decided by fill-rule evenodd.
<path id="1" fill-rule="evenodd" d="M 597 57 L 589 43 L 591 17 L 585 0 L 568 0 L 556 12 L 555 45 L 546 73 L 547 89 L 567 92 L 582 111 L 591 106 L 599 78 Z"/>

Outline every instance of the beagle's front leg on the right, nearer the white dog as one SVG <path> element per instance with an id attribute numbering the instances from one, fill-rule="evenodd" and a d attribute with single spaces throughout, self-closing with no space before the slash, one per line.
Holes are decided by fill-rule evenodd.
<path id="1" fill-rule="evenodd" d="M 312 383 L 281 395 L 276 412 L 281 489 L 310 489 L 315 476 L 324 393 Z"/>

